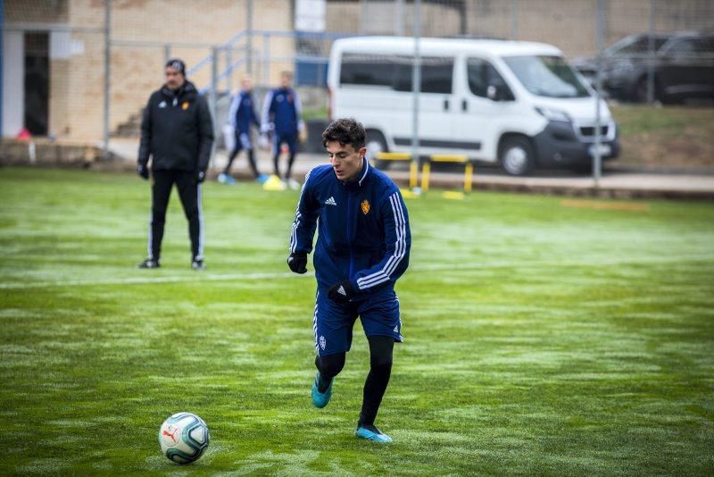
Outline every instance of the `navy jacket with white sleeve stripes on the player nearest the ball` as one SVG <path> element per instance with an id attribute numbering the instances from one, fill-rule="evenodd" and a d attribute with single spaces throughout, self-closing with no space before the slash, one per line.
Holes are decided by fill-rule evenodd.
<path id="1" fill-rule="evenodd" d="M 411 231 L 399 188 L 367 159 L 359 180 L 338 180 L 332 166 L 305 176 L 290 238 L 291 252 L 310 253 L 318 289 L 349 279 L 357 299 L 394 293 L 409 264 Z"/>

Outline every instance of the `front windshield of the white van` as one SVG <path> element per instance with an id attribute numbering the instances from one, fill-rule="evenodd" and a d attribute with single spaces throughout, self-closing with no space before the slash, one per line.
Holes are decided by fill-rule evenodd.
<path id="1" fill-rule="evenodd" d="M 586 97 L 590 93 L 560 56 L 507 56 L 503 61 L 537 96 Z"/>

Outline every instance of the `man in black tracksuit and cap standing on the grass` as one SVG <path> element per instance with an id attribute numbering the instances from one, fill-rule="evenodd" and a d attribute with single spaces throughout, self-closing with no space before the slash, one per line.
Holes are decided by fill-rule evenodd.
<path id="1" fill-rule="evenodd" d="M 211 156 L 213 123 L 205 99 L 186 80 L 186 65 L 181 60 L 170 60 L 165 74 L 166 84 L 149 97 L 141 121 L 137 172 L 149 179 L 147 164 L 151 156 L 152 211 L 148 257 L 139 268 L 158 268 L 161 264 L 166 207 L 176 184 L 188 219 L 191 266 L 203 270 L 201 183 Z"/>

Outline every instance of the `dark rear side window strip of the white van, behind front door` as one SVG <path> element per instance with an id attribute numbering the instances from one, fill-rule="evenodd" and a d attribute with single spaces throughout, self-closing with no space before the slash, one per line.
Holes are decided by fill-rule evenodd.
<path id="1" fill-rule="evenodd" d="M 423 57 L 421 62 L 421 92 L 452 94 L 453 58 Z M 410 56 L 344 54 L 340 84 L 411 91 L 412 65 Z"/>

